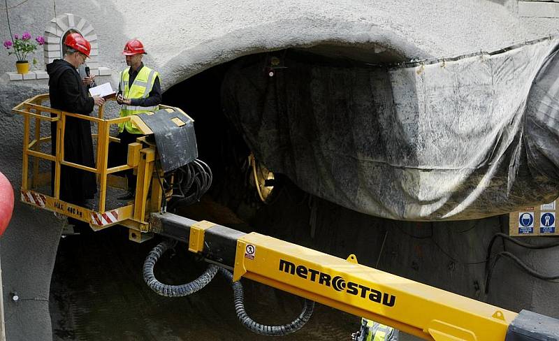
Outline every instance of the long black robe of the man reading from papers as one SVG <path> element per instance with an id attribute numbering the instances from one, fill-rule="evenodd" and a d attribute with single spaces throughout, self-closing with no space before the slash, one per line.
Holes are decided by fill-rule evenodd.
<path id="1" fill-rule="evenodd" d="M 55 59 L 47 65 L 48 87 L 51 108 L 69 113 L 89 115 L 94 101 L 87 96 L 78 71 L 63 59 Z M 52 135 L 52 154 L 56 146 L 56 122 L 50 125 Z M 64 130 L 64 160 L 82 166 L 95 167 L 93 154 L 92 127 L 89 121 L 66 116 Z M 54 165 L 51 188 L 54 187 Z M 68 203 L 82 205 L 86 199 L 94 198 L 96 193 L 95 173 L 78 168 L 61 166 L 60 199 Z M 54 194 L 54 189 L 52 191 Z"/>

